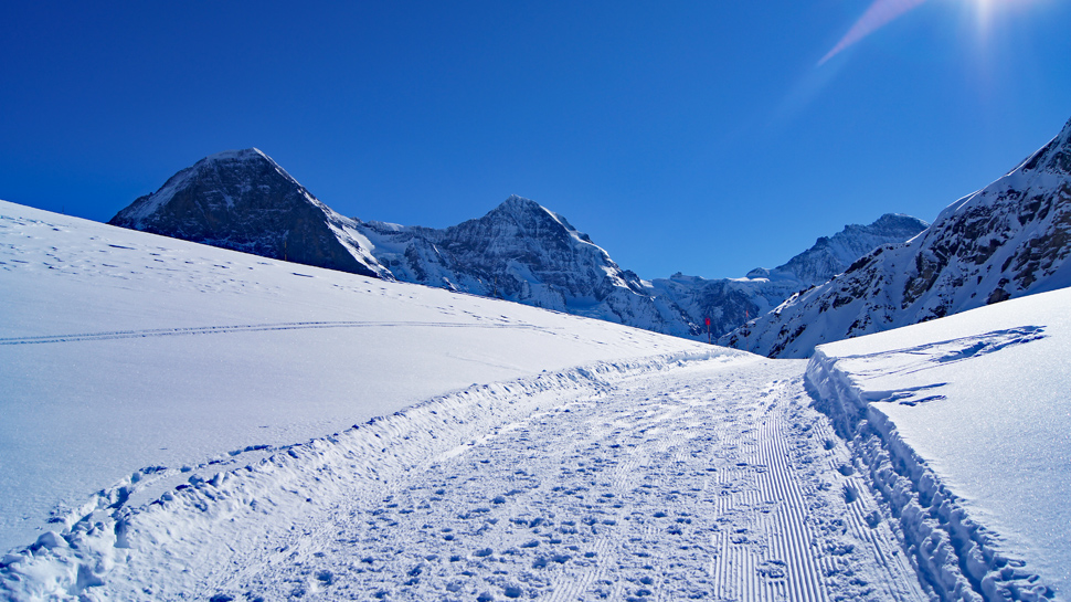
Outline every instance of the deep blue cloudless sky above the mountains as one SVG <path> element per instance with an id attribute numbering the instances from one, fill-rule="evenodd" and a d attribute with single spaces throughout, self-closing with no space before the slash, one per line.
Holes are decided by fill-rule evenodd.
<path id="1" fill-rule="evenodd" d="M 1071 117 L 1071 2 L 929 0 L 818 66 L 872 3 L 9 3 L 0 199 L 106 221 L 255 146 L 347 215 L 516 193 L 644 277 L 740 276 L 932 220 Z"/>

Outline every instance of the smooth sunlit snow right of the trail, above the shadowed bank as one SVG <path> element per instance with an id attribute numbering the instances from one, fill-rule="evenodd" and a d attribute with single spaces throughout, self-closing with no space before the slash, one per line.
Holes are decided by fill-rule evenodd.
<path id="1" fill-rule="evenodd" d="M 815 381 L 839 380 L 842 405 L 910 448 L 900 461 L 916 486 L 940 484 L 930 507 L 983 526 L 968 541 L 996 558 L 971 577 L 990 589 L 1008 567 L 1042 575 L 1042 592 L 1071 588 L 1069 304 L 1068 289 L 1007 300 L 820 346 L 812 360 Z"/>

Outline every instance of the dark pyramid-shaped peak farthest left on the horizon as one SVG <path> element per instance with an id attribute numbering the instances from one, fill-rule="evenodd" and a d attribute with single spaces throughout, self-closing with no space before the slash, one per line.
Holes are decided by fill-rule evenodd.
<path id="1" fill-rule="evenodd" d="M 390 277 L 356 233 L 255 148 L 201 159 L 108 223 L 272 258 Z"/>

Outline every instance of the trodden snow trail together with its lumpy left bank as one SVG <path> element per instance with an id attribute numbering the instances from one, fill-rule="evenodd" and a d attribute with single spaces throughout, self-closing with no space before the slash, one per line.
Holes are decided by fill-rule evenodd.
<path id="1" fill-rule="evenodd" d="M 0 572 L 88 600 L 925 600 L 800 362 L 604 362 L 204 467 Z M 14 556 L 14 555 L 12 555 Z M 19 580 L 17 580 L 19 579 Z"/>

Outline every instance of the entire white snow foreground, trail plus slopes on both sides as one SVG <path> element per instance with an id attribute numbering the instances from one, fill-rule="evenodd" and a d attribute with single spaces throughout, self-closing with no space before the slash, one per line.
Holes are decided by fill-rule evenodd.
<path id="1" fill-rule="evenodd" d="M 1068 300 L 808 365 L 0 202 L 0 598 L 1061 599 Z"/>

